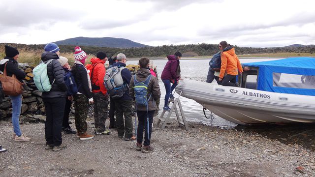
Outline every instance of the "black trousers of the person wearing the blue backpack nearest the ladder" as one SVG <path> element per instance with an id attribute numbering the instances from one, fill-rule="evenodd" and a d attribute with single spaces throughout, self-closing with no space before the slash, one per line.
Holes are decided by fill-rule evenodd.
<path id="1" fill-rule="evenodd" d="M 155 111 L 149 111 L 149 136 L 148 136 L 148 114 L 147 111 L 137 111 L 138 116 L 138 129 L 137 129 L 137 142 L 142 144 L 143 139 L 143 129 L 144 131 L 144 146 L 150 145 L 151 133 L 152 133 L 152 123 L 153 123 L 153 115 Z"/>

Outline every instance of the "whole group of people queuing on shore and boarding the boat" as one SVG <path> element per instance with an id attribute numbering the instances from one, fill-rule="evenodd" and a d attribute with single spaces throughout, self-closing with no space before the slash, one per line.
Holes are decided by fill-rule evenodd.
<path id="1" fill-rule="evenodd" d="M 236 75 L 242 73 L 243 69 L 238 57 L 226 41 L 219 44 L 221 67 L 215 71 L 210 65 L 207 82 L 211 83 L 214 79 L 218 84 L 223 86 L 235 86 Z M 0 71 L 3 72 L 6 67 L 7 75 L 13 74 L 19 81 L 25 78 L 26 74 L 18 68 L 19 52 L 16 48 L 5 45 L 6 57 L 0 60 Z M 127 58 L 125 54 L 118 54 L 114 59 L 110 58 L 109 66 L 105 67 L 105 62 L 108 59 L 106 53 L 98 52 L 96 58 L 91 59 L 91 64 L 86 64 L 88 55 L 80 48 L 74 49 L 74 64 L 71 68 L 68 59 L 60 56 L 60 49 L 55 43 L 48 43 L 44 52 L 41 55 L 41 62 L 47 64 L 47 75 L 51 89 L 42 93 L 42 99 L 45 106 L 46 121 L 45 121 L 45 149 L 59 151 L 66 148 L 63 143 L 62 131 L 68 134 L 76 134 L 80 140 L 90 140 L 94 135 L 87 132 L 88 126 L 86 118 L 89 111 L 89 104 L 94 104 L 94 119 L 95 119 L 95 135 L 109 135 L 110 131 L 105 127 L 107 117 L 110 118 L 109 128 L 117 128 L 118 137 L 124 138 L 126 141 L 137 140 L 136 150 L 141 150 L 144 153 L 152 152 L 154 148 L 150 145 L 153 117 L 160 99 L 160 88 L 156 66 L 151 68 L 148 58 L 139 60 L 140 69 L 134 77 L 126 68 Z M 164 84 L 166 93 L 164 97 L 164 111 L 170 111 L 168 106 L 169 99 L 173 99 L 172 94 L 175 87 L 178 85 L 181 78 L 180 59 L 182 54 L 176 52 L 174 55 L 167 56 L 167 63 L 161 73 L 161 80 Z M 107 73 L 106 69 L 117 69 L 119 77 L 123 85 L 120 96 L 108 93 L 104 77 Z M 66 79 L 73 77 L 73 82 L 77 86 L 77 92 L 71 93 L 69 86 L 66 84 Z M 150 77 L 149 77 L 150 76 Z M 153 76 L 153 77 L 151 77 Z M 136 114 L 138 117 L 138 128 L 136 130 L 137 137 L 133 135 L 132 123 L 132 106 L 135 100 L 135 89 L 138 83 L 145 83 L 149 78 L 147 85 L 146 105 L 137 105 L 135 103 Z M 120 88 L 121 89 L 121 88 Z M 12 102 L 12 124 L 14 130 L 14 141 L 25 142 L 31 138 L 23 134 L 20 125 L 19 117 L 22 107 L 22 95 L 9 96 Z M 76 131 L 72 130 L 69 125 L 70 107 L 74 101 L 74 119 Z M 110 109 L 108 113 L 108 103 L 110 101 Z M 114 118 L 116 112 L 116 120 Z M 145 131 L 144 131 L 145 130 Z M 145 133 L 144 133 L 145 132 Z M 143 143 L 143 133 L 144 143 Z M 5 151 L 0 146 L 0 152 Z"/>

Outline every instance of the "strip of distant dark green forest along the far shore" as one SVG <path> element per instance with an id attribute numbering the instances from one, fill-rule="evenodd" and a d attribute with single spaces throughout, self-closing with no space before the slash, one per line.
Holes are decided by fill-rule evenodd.
<path id="1" fill-rule="evenodd" d="M 3 43 L 1 43 L 3 45 Z M 0 45 L 1 45 L 0 44 Z M 43 50 L 45 45 L 26 45 L 26 44 L 9 44 L 17 48 L 24 48 L 32 51 Z M 74 52 L 74 45 L 60 45 L 61 52 Z M 189 44 L 189 45 L 163 45 L 158 47 L 142 47 L 142 48 L 109 48 L 109 47 L 91 47 L 80 46 L 88 54 L 96 54 L 99 51 L 107 53 L 108 56 L 115 56 L 124 53 L 128 58 L 136 57 L 166 57 L 180 51 L 185 57 L 195 56 L 212 56 L 219 51 L 218 44 Z M 235 47 L 237 55 L 243 54 L 274 54 L 274 53 L 315 53 L 315 45 L 299 46 L 299 47 Z"/>

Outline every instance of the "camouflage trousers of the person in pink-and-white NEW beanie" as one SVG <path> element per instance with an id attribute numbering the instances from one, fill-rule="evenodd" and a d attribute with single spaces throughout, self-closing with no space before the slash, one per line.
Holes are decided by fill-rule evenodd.
<path id="1" fill-rule="evenodd" d="M 74 120 L 78 133 L 85 133 L 88 130 L 86 122 L 89 112 L 89 99 L 84 94 L 74 94 Z"/>

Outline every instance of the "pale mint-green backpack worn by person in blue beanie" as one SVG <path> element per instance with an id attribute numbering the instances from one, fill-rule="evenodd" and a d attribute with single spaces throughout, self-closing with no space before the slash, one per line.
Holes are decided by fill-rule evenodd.
<path id="1" fill-rule="evenodd" d="M 36 88 L 43 92 L 43 91 L 50 91 L 52 85 L 55 82 L 55 79 L 52 84 L 50 84 L 48 74 L 47 74 L 47 65 L 53 59 L 49 59 L 46 63 L 41 61 L 34 69 L 33 69 L 33 80 L 35 83 Z"/>

